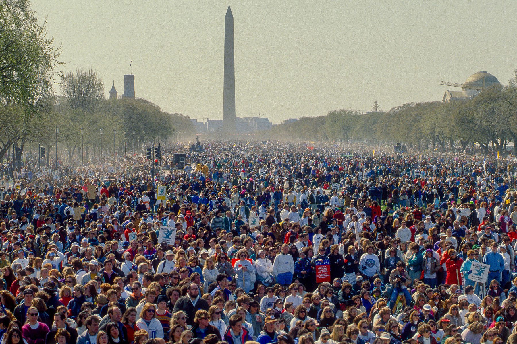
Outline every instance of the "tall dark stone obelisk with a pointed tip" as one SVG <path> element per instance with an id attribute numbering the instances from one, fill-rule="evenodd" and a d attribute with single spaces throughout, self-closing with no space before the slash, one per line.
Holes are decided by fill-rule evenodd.
<path id="1" fill-rule="evenodd" d="M 235 132 L 235 61 L 233 52 L 233 14 L 230 6 L 224 18 L 223 128 Z"/>

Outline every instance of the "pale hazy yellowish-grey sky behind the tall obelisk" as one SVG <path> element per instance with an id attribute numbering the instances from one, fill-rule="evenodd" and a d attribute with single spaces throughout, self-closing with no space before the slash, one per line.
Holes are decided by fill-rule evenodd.
<path id="1" fill-rule="evenodd" d="M 517 69 L 516 1 L 33 0 L 64 70 L 95 68 L 106 94 L 222 119 L 224 15 L 234 15 L 239 117 L 273 123 L 338 108 L 441 100 L 440 81 Z M 459 89 L 458 89 L 459 90 Z"/>

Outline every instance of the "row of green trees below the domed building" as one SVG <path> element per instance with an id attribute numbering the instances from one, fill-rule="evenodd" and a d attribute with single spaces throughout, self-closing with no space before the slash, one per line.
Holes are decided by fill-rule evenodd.
<path id="1" fill-rule="evenodd" d="M 372 144 L 401 142 L 417 149 L 517 155 L 517 70 L 504 87 L 451 103 L 407 103 L 389 111 L 339 109 L 326 116 L 302 117 L 270 130 L 271 138 Z M 513 152 L 511 152 L 513 151 Z"/>

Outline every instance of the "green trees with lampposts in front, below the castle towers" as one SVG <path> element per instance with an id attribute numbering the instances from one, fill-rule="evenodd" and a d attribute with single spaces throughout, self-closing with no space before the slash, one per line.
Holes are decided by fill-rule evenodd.
<path id="1" fill-rule="evenodd" d="M 190 118 L 183 114 L 165 112 L 143 99 L 107 99 L 94 69 L 56 73 L 63 66 L 61 51 L 28 0 L 2 1 L 0 161 L 14 145 L 22 152 L 37 152 L 41 144 L 50 153 L 56 128 L 58 148 L 69 162 L 81 161 L 81 152 L 84 161 L 99 158 L 101 140 L 103 156 L 113 156 L 114 149 L 132 152 L 134 145 L 140 152 L 143 144 L 194 134 Z"/>

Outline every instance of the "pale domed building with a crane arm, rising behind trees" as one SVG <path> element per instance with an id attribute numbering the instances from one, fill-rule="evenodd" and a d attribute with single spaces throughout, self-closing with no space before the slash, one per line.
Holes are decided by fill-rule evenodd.
<path id="1" fill-rule="evenodd" d="M 463 84 L 442 81 L 440 85 L 460 87 L 462 89 L 461 91 L 445 91 L 442 102 L 450 103 L 457 100 L 468 100 L 491 86 L 501 86 L 501 83 L 499 83 L 499 80 L 492 74 L 480 71 L 470 75 Z"/>

